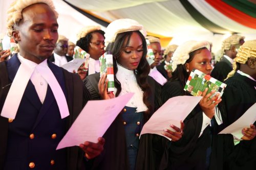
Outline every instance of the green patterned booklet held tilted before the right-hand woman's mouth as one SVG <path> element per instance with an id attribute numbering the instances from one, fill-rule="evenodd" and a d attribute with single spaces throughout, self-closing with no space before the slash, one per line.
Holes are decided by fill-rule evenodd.
<path id="1" fill-rule="evenodd" d="M 194 96 L 201 96 L 205 88 L 208 88 L 206 94 L 215 90 L 216 92 L 212 96 L 219 93 L 220 95 L 218 99 L 220 99 L 226 86 L 225 83 L 204 74 L 202 71 L 193 69 L 188 77 L 184 90 Z M 212 96 L 210 98 L 212 98 Z"/>

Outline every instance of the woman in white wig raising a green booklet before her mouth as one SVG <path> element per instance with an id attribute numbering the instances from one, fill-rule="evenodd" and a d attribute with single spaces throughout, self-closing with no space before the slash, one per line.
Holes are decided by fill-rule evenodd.
<path id="1" fill-rule="evenodd" d="M 172 60 L 173 77 L 163 86 L 163 102 L 174 96 L 190 95 L 183 88 L 192 69 L 198 69 L 208 75 L 212 70 L 207 42 L 188 41 L 182 44 L 177 48 Z M 205 92 L 203 96 L 199 105 L 184 120 L 183 137 L 177 142 L 170 143 L 168 158 L 163 157 L 165 161 L 162 161 L 161 169 L 223 169 L 225 157 L 234 147 L 233 136 L 217 135 L 218 125 L 214 115 L 215 106 L 221 99 L 212 103 Z M 216 97 L 217 95 L 211 100 L 215 100 Z M 206 101 L 210 102 L 208 106 L 203 105 Z M 210 118 L 210 122 L 205 115 Z"/>

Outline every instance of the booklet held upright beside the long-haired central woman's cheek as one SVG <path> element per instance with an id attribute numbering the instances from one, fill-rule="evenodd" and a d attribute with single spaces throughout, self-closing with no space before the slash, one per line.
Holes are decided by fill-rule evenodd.
<path id="1" fill-rule="evenodd" d="M 114 84 L 114 66 L 113 66 L 113 55 L 110 52 L 105 52 L 99 58 L 100 65 L 100 77 L 106 73 L 106 78 L 109 80 L 108 82 L 108 91 L 115 90 Z"/>

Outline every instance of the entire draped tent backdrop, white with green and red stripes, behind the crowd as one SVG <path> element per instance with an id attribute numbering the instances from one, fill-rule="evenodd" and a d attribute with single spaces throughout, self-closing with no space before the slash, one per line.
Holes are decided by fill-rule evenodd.
<path id="1" fill-rule="evenodd" d="M 6 10 L 13 2 L 0 0 L 4 33 Z M 256 39 L 255 0 L 53 0 L 59 12 L 59 34 L 76 41 L 76 33 L 87 25 L 108 24 L 119 18 L 141 23 L 148 35 L 157 36 L 165 47 L 187 40 L 208 40 L 217 52 L 232 33 Z M 171 40 L 169 42 L 169 40 Z"/>

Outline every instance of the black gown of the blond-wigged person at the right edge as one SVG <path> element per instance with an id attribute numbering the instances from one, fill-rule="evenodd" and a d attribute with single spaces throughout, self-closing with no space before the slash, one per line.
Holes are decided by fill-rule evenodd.
<path id="1" fill-rule="evenodd" d="M 235 122 L 256 102 L 255 81 L 236 72 L 225 83 L 227 87 L 218 106 L 223 119 L 222 129 Z M 256 169 L 256 138 L 240 141 L 224 165 L 225 169 Z"/>

